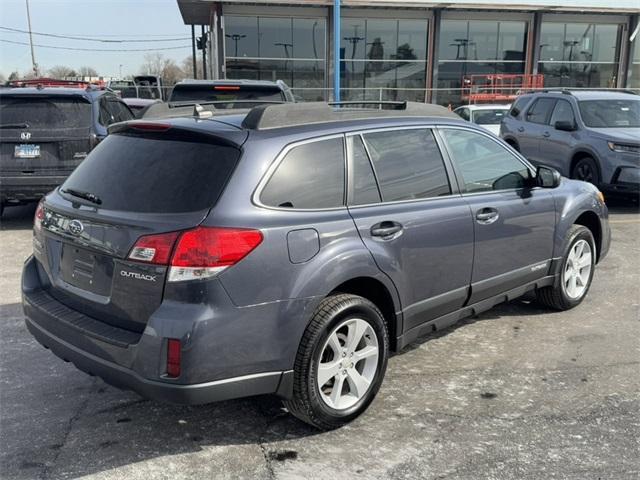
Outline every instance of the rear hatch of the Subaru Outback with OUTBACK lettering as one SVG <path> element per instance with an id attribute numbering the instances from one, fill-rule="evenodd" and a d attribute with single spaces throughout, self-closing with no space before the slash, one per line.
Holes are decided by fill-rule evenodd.
<path id="1" fill-rule="evenodd" d="M 142 236 L 201 223 L 240 157 L 232 144 L 174 130 L 110 134 L 46 198 L 35 251 L 58 301 L 144 330 L 167 267 L 129 260 L 132 247 Z"/>

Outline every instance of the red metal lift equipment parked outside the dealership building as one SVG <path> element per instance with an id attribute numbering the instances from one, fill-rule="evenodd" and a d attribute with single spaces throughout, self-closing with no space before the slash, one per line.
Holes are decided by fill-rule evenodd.
<path id="1" fill-rule="evenodd" d="M 544 87 L 542 74 L 490 74 L 462 77 L 462 100 L 476 102 L 511 102 L 527 90 Z"/>

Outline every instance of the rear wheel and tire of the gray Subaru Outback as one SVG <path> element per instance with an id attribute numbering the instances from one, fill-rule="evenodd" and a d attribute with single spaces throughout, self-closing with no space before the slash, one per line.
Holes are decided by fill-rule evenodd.
<path id="1" fill-rule="evenodd" d="M 349 342 L 352 332 L 354 338 L 361 335 L 355 346 Z M 374 346 L 377 357 L 372 353 Z M 329 296 L 320 303 L 302 336 L 294 366 L 293 398 L 285 406 L 297 418 L 321 430 L 341 427 L 373 401 L 384 378 L 388 355 L 389 335 L 380 310 L 357 295 Z M 358 360 L 359 356 L 362 359 Z M 322 385 L 318 376 L 321 369 L 328 379 Z M 361 379 L 368 379 L 368 384 Z M 340 382 L 343 395 L 331 395 L 336 382 Z M 355 385 L 362 391 L 358 392 Z"/>

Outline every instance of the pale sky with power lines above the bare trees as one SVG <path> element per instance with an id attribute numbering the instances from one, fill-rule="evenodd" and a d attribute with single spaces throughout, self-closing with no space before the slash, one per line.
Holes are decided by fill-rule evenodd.
<path id="1" fill-rule="evenodd" d="M 100 49 L 159 49 L 180 64 L 191 54 L 191 28 L 184 25 L 176 0 L 29 0 L 31 28 L 38 33 L 84 36 L 105 39 L 152 40 L 146 43 L 100 43 L 63 38 L 33 36 L 36 45 L 89 48 L 94 51 L 55 50 L 35 47 L 41 71 L 54 65 L 72 68 L 90 66 L 100 75 L 117 76 L 139 73 L 145 52 L 99 52 Z M 0 0 L 0 27 L 27 30 L 25 0 Z M 182 38 L 158 41 L 161 38 Z M 0 29 L 0 40 L 29 42 L 26 33 Z M 153 41 L 155 40 L 155 41 Z M 27 45 L 0 41 L 0 73 L 5 77 L 17 70 L 31 70 L 31 53 Z"/>

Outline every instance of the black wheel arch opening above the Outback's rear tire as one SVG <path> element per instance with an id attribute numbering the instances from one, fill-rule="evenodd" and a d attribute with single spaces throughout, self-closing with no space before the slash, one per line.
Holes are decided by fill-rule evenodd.
<path id="1" fill-rule="evenodd" d="M 399 325 L 400 319 L 396 315 L 396 311 L 399 310 L 399 305 L 394 301 L 386 285 L 372 277 L 356 277 L 336 286 L 330 295 L 337 293 L 358 295 L 366 298 L 378 307 L 382 312 L 384 321 L 387 324 L 387 330 L 389 331 L 389 346 L 392 351 L 396 351 L 396 338 L 398 332 L 401 331 L 401 326 Z"/>

